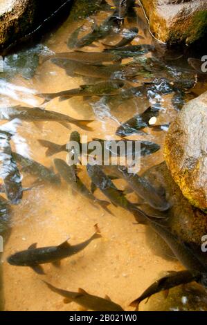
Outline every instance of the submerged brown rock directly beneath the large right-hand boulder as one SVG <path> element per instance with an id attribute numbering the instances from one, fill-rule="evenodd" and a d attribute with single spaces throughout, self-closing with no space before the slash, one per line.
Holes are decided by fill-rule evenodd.
<path id="1" fill-rule="evenodd" d="M 206 214 L 190 204 L 183 196 L 181 189 L 174 182 L 170 170 L 165 162 L 156 165 L 143 174 L 157 189 L 165 189 L 165 194 L 170 203 L 168 211 L 168 226 L 179 239 L 185 243 L 193 243 L 198 254 L 201 253 L 201 238 L 207 234 Z M 206 259 L 206 253 L 203 257 Z"/>

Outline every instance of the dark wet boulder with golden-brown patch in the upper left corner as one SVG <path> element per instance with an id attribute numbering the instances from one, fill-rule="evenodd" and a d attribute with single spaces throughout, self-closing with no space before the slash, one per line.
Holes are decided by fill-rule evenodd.
<path id="1" fill-rule="evenodd" d="M 43 6 L 40 0 L 0 0 L 0 50 L 35 30 L 64 3 L 55 0 Z"/>

